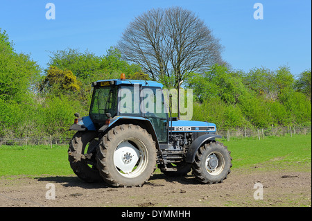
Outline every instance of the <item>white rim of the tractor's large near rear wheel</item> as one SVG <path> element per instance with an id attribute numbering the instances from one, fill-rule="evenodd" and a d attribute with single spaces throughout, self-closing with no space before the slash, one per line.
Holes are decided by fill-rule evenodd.
<path id="1" fill-rule="evenodd" d="M 114 166 L 123 177 L 141 175 L 148 164 L 146 145 L 137 138 L 125 139 L 114 151 Z"/>

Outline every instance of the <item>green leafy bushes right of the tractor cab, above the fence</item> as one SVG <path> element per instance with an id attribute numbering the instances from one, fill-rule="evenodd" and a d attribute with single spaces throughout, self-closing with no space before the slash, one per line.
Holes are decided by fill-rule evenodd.
<path id="1" fill-rule="evenodd" d="M 309 91 L 309 71 L 302 73 L 300 79 L 306 79 L 302 80 L 305 83 L 298 81 L 295 87 L 288 67 L 276 71 L 254 68 L 244 73 L 214 65 L 204 75 L 192 73 L 187 87 L 193 89 L 195 96 L 193 120 L 214 122 L 222 129 L 309 125 L 309 93 L 302 93 L 298 86 L 306 85 L 302 91 L 303 88 Z"/>

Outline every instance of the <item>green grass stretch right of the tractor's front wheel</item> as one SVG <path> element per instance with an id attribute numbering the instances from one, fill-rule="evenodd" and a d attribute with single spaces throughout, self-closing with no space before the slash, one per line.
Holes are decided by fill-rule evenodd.
<path id="1" fill-rule="evenodd" d="M 266 139 L 223 141 L 231 151 L 233 168 L 261 164 L 263 168 L 287 168 L 311 171 L 311 134 L 271 136 Z M 269 166 L 269 168 L 268 168 Z"/>

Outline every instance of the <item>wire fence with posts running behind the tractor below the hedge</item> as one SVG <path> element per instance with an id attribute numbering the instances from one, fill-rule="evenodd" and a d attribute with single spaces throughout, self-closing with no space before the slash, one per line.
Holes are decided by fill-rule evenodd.
<path id="1" fill-rule="evenodd" d="M 309 134 L 311 127 L 293 126 L 293 127 L 272 127 L 267 128 L 236 128 L 231 130 L 217 130 L 216 134 L 223 136 L 227 141 L 233 138 L 254 137 L 264 139 L 266 136 L 293 136 L 295 134 Z M 2 137 L 0 145 L 69 145 L 71 136 L 31 136 L 31 137 Z"/>

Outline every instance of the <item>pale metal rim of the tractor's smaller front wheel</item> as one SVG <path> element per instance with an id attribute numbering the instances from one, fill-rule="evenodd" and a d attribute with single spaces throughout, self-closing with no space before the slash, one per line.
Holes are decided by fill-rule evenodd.
<path id="1" fill-rule="evenodd" d="M 218 175 L 225 166 L 225 160 L 220 152 L 211 152 L 205 161 L 206 170 L 210 175 Z"/>

